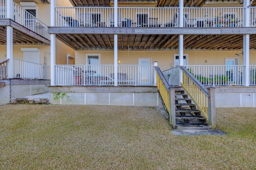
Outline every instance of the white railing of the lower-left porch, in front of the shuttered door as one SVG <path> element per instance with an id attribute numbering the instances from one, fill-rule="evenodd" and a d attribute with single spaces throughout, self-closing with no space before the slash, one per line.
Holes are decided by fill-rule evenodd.
<path id="1" fill-rule="evenodd" d="M 13 78 L 48 79 L 49 66 L 13 59 Z"/>

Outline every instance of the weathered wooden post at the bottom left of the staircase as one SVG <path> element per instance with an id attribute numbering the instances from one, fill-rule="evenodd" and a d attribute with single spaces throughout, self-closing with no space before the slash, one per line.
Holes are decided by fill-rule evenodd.
<path id="1" fill-rule="evenodd" d="M 169 90 L 169 117 L 170 125 L 173 129 L 176 127 L 176 117 L 175 117 L 175 88 L 168 88 Z"/>

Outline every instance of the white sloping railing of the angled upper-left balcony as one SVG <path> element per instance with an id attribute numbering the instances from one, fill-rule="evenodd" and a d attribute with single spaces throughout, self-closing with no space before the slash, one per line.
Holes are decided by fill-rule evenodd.
<path id="1" fill-rule="evenodd" d="M 35 16 L 18 6 L 13 2 L 13 20 L 23 25 L 24 27 L 34 31 L 35 33 L 41 35 L 42 37 L 48 39 L 48 27 L 42 21 L 38 20 Z"/>

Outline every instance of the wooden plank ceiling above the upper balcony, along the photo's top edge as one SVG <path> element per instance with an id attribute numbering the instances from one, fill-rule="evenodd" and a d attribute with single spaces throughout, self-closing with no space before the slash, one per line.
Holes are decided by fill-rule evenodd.
<path id="1" fill-rule="evenodd" d="M 177 7 L 179 0 L 118 0 L 122 4 L 147 4 L 148 2 L 156 2 L 157 7 Z M 206 2 L 238 2 L 237 0 L 184 0 L 184 7 L 202 7 Z M 114 3 L 114 0 L 70 0 L 71 4 L 76 7 L 81 6 L 110 6 L 110 2 Z M 256 0 L 253 0 L 252 6 L 256 6 Z"/>

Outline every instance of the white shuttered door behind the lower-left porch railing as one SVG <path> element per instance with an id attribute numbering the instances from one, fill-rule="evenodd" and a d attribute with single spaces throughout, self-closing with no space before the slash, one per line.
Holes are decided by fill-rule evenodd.
<path id="1" fill-rule="evenodd" d="M 24 78 L 40 78 L 40 52 L 31 51 L 23 53 Z"/>

